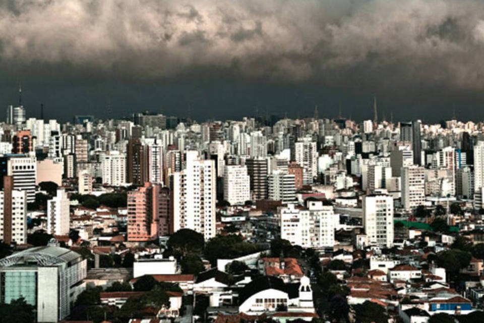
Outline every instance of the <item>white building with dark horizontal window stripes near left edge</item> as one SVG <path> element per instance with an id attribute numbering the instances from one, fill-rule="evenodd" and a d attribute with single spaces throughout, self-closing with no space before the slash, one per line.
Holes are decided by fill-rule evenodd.
<path id="1" fill-rule="evenodd" d="M 15 156 L 8 160 L 7 175 L 14 179 L 14 189 L 27 192 L 27 202 L 35 201 L 37 160 L 35 157 Z"/>

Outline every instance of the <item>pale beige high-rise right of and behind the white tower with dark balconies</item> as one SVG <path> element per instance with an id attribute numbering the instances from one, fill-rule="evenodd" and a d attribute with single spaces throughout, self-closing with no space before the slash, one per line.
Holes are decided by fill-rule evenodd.
<path id="1" fill-rule="evenodd" d="M 425 169 L 421 166 L 403 167 L 401 174 L 402 206 L 413 209 L 425 204 Z"/>

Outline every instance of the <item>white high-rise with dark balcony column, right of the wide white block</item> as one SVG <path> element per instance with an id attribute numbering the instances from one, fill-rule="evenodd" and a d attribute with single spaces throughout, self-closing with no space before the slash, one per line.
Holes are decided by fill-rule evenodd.
<path id="1" fill-rule="evenodd" d="M 362 200 L 363 226 L 370 244 L 393 246 L 393 198 L 389 195 L 366 195 Z"/>

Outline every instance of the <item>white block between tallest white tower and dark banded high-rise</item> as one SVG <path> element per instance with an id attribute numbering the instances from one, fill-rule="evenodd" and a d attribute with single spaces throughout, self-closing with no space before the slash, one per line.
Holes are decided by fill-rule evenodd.
<path id="1" fill-rule="evenodd" d="M 244 204 L 251 199 L 251 180 L 246 166 L 225 166 L 223 199 L 230 205 Z"/>

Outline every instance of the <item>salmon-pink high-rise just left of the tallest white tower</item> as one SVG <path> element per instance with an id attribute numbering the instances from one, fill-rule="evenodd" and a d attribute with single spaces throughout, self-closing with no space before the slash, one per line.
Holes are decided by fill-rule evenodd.
<path id="1" fill-rule="evenodd" d="M 149 241 L 168 234 L 168 200 L 166 189 L 149 182 L 128 192 L 128 241 Z"/>

